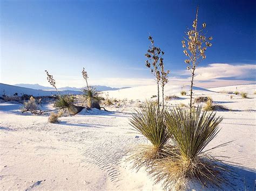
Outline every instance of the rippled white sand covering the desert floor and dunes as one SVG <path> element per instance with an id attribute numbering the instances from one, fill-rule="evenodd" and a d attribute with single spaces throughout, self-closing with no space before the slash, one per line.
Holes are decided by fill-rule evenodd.
<path id="1" fill-rule="evenodd" d="M 240 163 L 235 167 L 235 189 L 253 188 L 256 169 L 256 95 L 255 85 L 237 86 L 240 95 L 220 94 L 235 87 L 195 88 L 195 97 L 207 95 L 232 111 L 218 111 L 224 117 L 221 131 L 209 147 L 234 140 L 218 151 Z M 180 86 L 167 86 L 165 95 L 176 94 L 179 100 L 168 104 L 188 103 L 180 96 Z M 104 93 L 106 94 L 106 92 Z M 0 190 L 159 190 L 141 169 L 134 172 L 124 161 L 133 145 L 147 143 L 131 132 L 129 117 L 140 102 L 156 95 L 154 86 L 108 91 L 109 97 L 128 100 L 106 109 L 114 112 L 83 110 L 79 115 L 60 118 L 59 124 L 48 123 L 47 116 L 21 114 L 21 105 L 0 103 Z M 139 138 L 136 138 L 139 136 Z M 39 182 L 38 182 L 39 181 Z M 41 182 L 40 182 L 41 181 Z"/>

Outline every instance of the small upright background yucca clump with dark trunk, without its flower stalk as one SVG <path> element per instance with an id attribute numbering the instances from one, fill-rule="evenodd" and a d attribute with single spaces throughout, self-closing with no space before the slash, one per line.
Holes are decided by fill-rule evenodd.
<path id="1" fill-rule="evenodd" d="M 99 102 L 101 97 L 99 96 L 99 92 L 96 90 L 96 88 L 89 86 L 83 88 L 82 91 L 84 92 L 84 97 L 87 101 L 87 107 L 100 109 Z"/>

